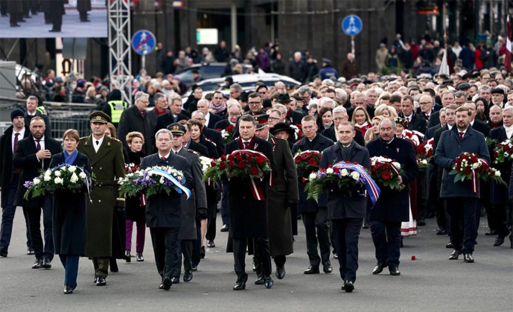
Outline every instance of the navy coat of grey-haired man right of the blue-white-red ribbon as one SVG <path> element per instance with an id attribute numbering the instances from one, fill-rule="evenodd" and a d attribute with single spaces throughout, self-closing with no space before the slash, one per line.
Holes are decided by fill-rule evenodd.
<path id="1" fill-rule="evenodd" d="M 419 173 L 415 158 L 415 151 L 410 142 L 394 138 L 386 144 L 381 138 L 367 143 L 370 157 L 383 156 L 396 160 L 404 171 L 402 178 L 405 188 L 402 191 L 392 190 L 378 183 L 381 194 L 371 209 L 371 202 L 367 200 L 367 217 L 369 220 L 381 222 L 406 222 L 409 219 L 409 184 Z"/>

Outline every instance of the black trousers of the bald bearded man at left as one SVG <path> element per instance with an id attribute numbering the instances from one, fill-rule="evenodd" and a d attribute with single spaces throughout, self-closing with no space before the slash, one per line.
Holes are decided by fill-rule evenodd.
<path id="1" fill-rule="evenodd" d="M 43 209 L 42 209 L 43 208 Z M 52 198 L 45 196 L 43 199 L 43 207 L 31 208 L 23 207 L 29 221 L 30 240 L 34 249 L 35 258 L 46 258 L 49 261 L 53 259 L 53 236 L 52 236 Z M 43 227 L 45 243 L 41 236 L 41 211 L 43 211 Z"/>

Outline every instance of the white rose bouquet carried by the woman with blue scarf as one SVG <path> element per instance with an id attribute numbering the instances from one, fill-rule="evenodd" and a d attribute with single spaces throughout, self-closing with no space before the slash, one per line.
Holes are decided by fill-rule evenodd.
<path id="1" fill-rule="evenodd" d="M 46 171 L 41 170 L 38 177 L 26 181 L 23 185 L 27 191 L 23 198 L 28 200 L 29 196 L 43 196 L 47 191 L 67 190 L 77 193 L 83 190 L 84 184 L 90 190 L 91 176 L 84 168 L 63 164 Z"/>

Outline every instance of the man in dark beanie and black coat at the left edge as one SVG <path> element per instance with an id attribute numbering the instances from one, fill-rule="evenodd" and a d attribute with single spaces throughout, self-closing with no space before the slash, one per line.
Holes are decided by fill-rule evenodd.
<path id="1" fill-rule="evenodd" d="M 12 222 L 16 212 L 13 205 L 16 190 L 19 184 L 19 169 L 14 170 L 12 166 L 12 155 L 16 151 L 18 142 L 29 135 L 25 128 L 25 113 L 19 108 L 11 111 L 12 125 L 0 136 L 0 188 L 2 193 L 2 229 L 0 230 L 0 257 L 7 257 L 7 251 L 11 242 Z M 27 224 L 27 248 L 32 249 L 30 244 L 30 233 L 28 219 Z"/>

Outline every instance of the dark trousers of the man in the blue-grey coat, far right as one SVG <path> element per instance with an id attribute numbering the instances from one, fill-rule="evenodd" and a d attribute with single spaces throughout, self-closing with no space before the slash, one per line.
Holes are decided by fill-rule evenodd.
<path id="1" fill-rule="evenodd" d="M 477 236 L 477 198 L 446 198 L 447 212 L 450 216 L 451 239 L 454 249 L 464 254 L 472 253 Z"/>

